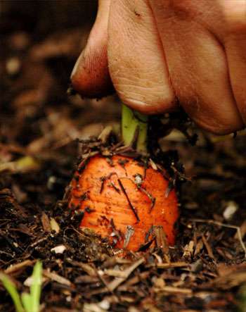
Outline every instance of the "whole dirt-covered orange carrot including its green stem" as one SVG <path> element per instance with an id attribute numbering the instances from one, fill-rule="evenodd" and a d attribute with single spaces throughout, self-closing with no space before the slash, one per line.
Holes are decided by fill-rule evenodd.
<path id="1" fill-rule="evenodd" d="M 122 138 L 126 146 L 148 156 L 147 117 L 122 106 Z M 145 163 L 146 164 L 146 163 Z M 70 183 L 70 208 L 83 211 L 80 224 L 107 238 L 115 247 L 137 251 L 162 226 L 171 245 L 179 218 L 176 191 L 168 192 L 163 172 L 127 156 L 98 154 L 79 165 Z M 167 195 L 168 194 L 168 195 Z"/>

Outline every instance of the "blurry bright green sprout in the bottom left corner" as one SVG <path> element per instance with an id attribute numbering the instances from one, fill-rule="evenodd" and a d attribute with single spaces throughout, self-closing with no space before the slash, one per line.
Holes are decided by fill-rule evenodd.
<path id="1" fill-rule="evenodd" d="M 0 280 L 10 294 L 16 312 L 39 312 L 39 301 L 41 296 L 41 277 L 42 277 L 42 263 L 37 261 L 32 271 L 32 285 L 30 286 L 30 293 L 18 293 L 14 283 L 4 273 L 0 273 Z"/>

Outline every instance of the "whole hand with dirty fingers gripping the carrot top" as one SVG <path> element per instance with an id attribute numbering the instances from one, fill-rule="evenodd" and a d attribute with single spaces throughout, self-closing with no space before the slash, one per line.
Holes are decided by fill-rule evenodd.
<path id="1" fill-rule="evenodd" d="M 173 111 L 224 135 L 246 123 L 246 0 L 101 0 L 72 71 L 82 96 Z"/>

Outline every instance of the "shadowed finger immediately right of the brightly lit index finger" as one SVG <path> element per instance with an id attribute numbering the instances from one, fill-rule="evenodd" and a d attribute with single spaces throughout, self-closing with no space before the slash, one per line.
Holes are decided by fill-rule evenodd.
<path id="1" fill-rule="evenodd" d="M 155 1 L 153 1 L 155 2 Z M 171 83 L 195 123 L 216 134 L 243 127 L 228 77 L 226 54 L 209 30 L 195 20 L 153 7 Z"/>

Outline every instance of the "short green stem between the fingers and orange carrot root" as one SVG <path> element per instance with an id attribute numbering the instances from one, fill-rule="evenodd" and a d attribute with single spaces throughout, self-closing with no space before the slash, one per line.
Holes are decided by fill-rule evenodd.
<path id="1" fill-rule="evenodd" d="M 122 104 L 122 139 L 125 145 L 136 142 L 136 150 L 147 153 L 148 116 Z M 137 137 L 136 137 L 137 135 Z"/>

